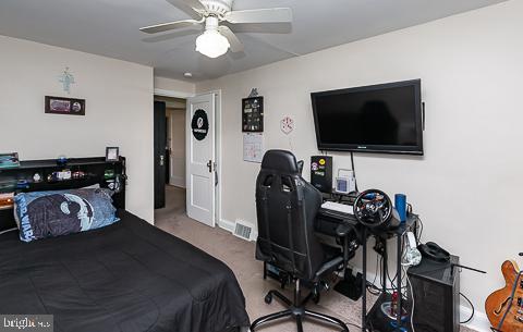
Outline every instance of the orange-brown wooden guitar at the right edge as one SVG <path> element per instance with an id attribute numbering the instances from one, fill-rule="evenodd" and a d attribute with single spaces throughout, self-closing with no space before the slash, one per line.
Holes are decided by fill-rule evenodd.
<path id="1" fill-rule="evenodd" d="M 485 311 L 492 331 L 523 331 L 523 271 L 515 261 L 507 260 L 501 266 L 506 286 L 494 292 L 485 302 Z"/>

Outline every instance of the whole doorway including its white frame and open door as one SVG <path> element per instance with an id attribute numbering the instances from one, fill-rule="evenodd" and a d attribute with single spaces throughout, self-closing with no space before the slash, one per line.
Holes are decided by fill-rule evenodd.
<path id="1" fill-rule="evenodd" d="M 184 104 L 172 107 L 172 111 L 181 113 L 169 112 L 170 101 Z M 218 224 L 229 230 L 228 223 L 221 224 L 221 90 L 195 96 L 155 89 L 156 104 L 160 106 L 160 115 L 155 116 L 155 142 L 165 139 L 165 143 L 155 147 L 155 202 L 157 197 L 159 200 L 155 220 L 157 214 L 174 210 L 174 213 L 209 226 Z M 158 125 L 157 122 L 161 124 Z M 185 125 L 177 130 L 175 125 L 181 123 Z M 156 134 L 160 131 L 163 131 L 165 135 Z M 185 147 L 180 156 L 175 153 L 177 142 L 181 143 L 181 148 Z M 178 157 L 183 157 L 183 161 Z M 169 176 L 166 173 L 167 160 Z M 183 168 L 185 172 L 181 180 L 177 170 Z M 163 180 L 156 181 L 157 179 Z M 168 186 L 161 185 L 166 183 L 166 179 L 169 179 Z M 170 220 L 175 218 L 168 217 Z"/>

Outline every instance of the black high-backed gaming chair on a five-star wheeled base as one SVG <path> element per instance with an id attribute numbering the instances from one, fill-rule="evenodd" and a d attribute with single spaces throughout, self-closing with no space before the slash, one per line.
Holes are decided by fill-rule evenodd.
<path id="1" fill-rule="evenodd" d="M 284 150 L 269 150 L 265 153 L 256 181 L 256 259 L 289 273 L 295 288 L 293 302 L 278 291 L 270 291 L 266 303 L 276 296 L 288 309 L 258 318 L 251 325 L 251 331 L 284 317 L 296 320 L 299 332 L 303 332 L 302 321 L 305 318 L 349 331 L 341 320 L 305 309 L 313 293 L 301 298 L 301 281 L 317 285 L 324 274 L 344 263 L 340 250 L 324 246 L 314 234 L 316 212 L 320 206 L 321 194 L 302 177 L 294 155 Z"/>

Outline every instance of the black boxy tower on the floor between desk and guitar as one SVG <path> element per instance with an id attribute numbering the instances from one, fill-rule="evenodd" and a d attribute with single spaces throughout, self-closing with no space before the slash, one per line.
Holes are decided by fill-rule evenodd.
<path id="1" fill-rule="evenodd" d="M 423 258 L 421 265 L 409 269 L 416 331 L 460 331 L 460 272 L 452 268 L 459 260 L 457 256 L 448 262 Z"/>

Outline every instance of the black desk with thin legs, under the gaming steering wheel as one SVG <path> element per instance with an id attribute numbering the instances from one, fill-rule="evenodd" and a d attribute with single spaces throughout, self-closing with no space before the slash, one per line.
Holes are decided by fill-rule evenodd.
<path id="1" fill-rule="evenodd" d="M 316 217 L 316 232 L 319 234 L 325 234 L 327 236 L 336 236 L 336 228 L 339 224 L 348 224 L 353 228 L 353 233 L 350 236 L 352 238 L 357 239 L 358 244 L 362 245 L 362 270 L 363 270 L 363 295 L 362 295 L 362 331 L 366 332 L 367 322 L 375 319 L 377 316 L 375 313 L 379 313 L 380 308 L 378 306 L 385 300 L 387 296 L 387 245 L 384 246 L 384 267 L 382 267 L 382 294 L 379 299 L 376 302 L 374 307 L 370 309 L 369 315 L 367 315 L 367 238 L 372 235 L 376 236 L 378 239 L 382 241 L 384 243 L 387 242 L 389 238 L 396 237 L 397 239 L 397 288 L 398 288 L 398 308 L 399 312 L 401 312 L 402 305 L 402 295 L 401 295 L 401 279 L 402 279 L 402 266 L 401 266 L 401 251 L 403 247 L 403 234 L 408 231 L 416 232 L 416 220 L 417 216 L 410 213 L 408 216 L 406 222 L 400 224 L 400 226 L 396 229 L 375 229 L 375 230 L 367 230 L 367 228 L 360 224 L 356 218 L 353 214 L 348 214 L 343 212 L 327 210 L 327 209 L 319 209 L 318 214 Z M 398 330 L 403 325 L 401 321 L 401 315 L 398 315 L 397 319 L 397 327 L 391 328 L 391 330 Z M 406 328 L 409 330 L 409 328 Z M 387 330 L 385 330 L 387 331 Z"/>

